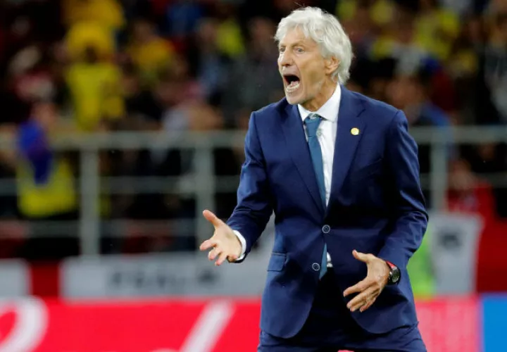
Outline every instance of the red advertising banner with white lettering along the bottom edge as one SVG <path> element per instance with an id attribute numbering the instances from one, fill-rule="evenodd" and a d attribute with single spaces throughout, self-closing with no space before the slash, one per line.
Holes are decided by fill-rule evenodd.
<path id="1" fill-rule="evenodd" d="M 428 351 L 480 351 L 475 300 L 422 302 L 418 310 Z M 258 344 L 260 306 L 24 300 L 1 303 L 0 312 L 0 352 L 250 352 Z"/>

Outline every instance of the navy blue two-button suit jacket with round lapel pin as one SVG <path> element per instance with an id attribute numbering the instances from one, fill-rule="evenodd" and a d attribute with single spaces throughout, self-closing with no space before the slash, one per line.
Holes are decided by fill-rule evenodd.
<path id="1" fill-rule="evenodd" d="M 423 239 L 427 213 L 405 115 L 342 87 L 337 129 L 325 209 L 297 106 L 282 99 L 251 114 L 238 203 L 227 223 L 244 236 L 249 253 L 275 212 L 261 329 L 276 337 L 294 336 L 308 318 L 324 244 L 342 291 L 367 274 L 353 249 L 401 269 L 399 284 L 387 286 L 365 312 L 351 313 L 363 329 L 383 333 L 417 322 L 406 265 Z"/>

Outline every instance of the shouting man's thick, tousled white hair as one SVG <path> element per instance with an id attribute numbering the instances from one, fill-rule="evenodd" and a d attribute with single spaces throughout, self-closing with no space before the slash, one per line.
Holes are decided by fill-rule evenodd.
<path id="1" fill-rule="evenodd" d="M 334 56 L 339 60 L 332 77 L 345 84 L 350 77 L 352 44 L 337 18 L 317 7 L 299 8 L 282 18 L 275 34 L 276 42 L 280 42 L 289 30 L 295 28 L 299 28 L 305 37 L 318 44 L 324 58 Z"/>

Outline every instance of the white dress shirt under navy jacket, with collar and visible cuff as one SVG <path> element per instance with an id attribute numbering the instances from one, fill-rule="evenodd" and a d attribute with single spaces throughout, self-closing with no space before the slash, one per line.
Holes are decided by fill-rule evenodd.
<path id="1" fill-rule="evenodd" d="M 320 149 L 322 150 L 323 155 L 323 165 L 324 165 L 324 185 L 325 185 L 325 194 L 326 194 L 326 204 L 329 203 L 330 194 L 331 194 L 331 180 L 332 180 L 332 163 L 334 158 L 334 142 L 337 137 L 337 123 L 338 123 L 338 111 L 340 99 L 342 97 L 342 89 L 340 89 L 339 84 L 337 84 L 337 88 L 334 89 L 334 93 L 327 100 L 323 106 L 318 109 L 318 111 L 308 111 L 303 106 L 298 105 L 299 115 L 301 117 L 301 123 L 308 117 L 311 113 L 316 113 L 319 115 L 322 120 L 320 121 L 320 125 L 317 130 L 317 138 L 320 143 Z M 303 128 L 306 127 L 303 124 Z M 306 136 L 308 139 L 308 136 Z M 234 230 L 234 234 L 238 237 L 239 241 L 242 244 L 242 255 L 238 260 L 242 260 L 246 251 L 246 240 L 236 230 Z M 330 268 L 331 257 L 330 254 L 327 253 L 327 267 Z"/>

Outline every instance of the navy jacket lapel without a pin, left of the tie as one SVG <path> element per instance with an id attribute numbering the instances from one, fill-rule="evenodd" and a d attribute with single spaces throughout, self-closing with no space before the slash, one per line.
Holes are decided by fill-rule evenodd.
<path id="1" fill-rule="evenodd" d="M 285 142 L 291 155 L 292 161 L 306 184 L 315 205 L 320 211 L 324 211 L 322 200 L 318 191 L 317 178 L 313 170 L 310 150 L 306 142 L 303 122 L 296 105 L 287 105 L 285 116 L 282 119 L 282 130 L 285 136 Z"/>

